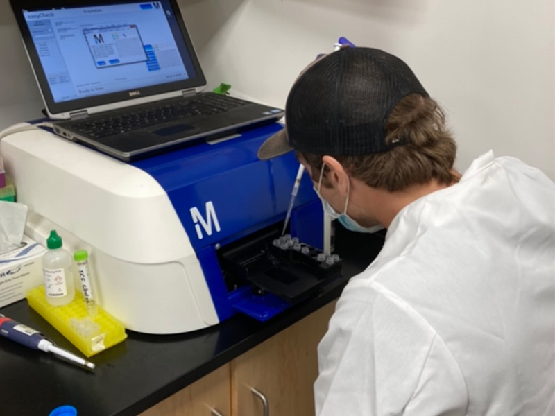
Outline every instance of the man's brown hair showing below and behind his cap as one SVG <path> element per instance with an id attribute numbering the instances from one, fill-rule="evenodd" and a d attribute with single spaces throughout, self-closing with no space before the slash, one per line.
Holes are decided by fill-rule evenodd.
<path id="1" fill-rule="evenodd" d="M 391 150 L 370 155 L 330 155 L 353 177 L 369 187 L 402 191 L 413 184 L 436 180 L 451 184 L 456 144 L 445 125 L 445 114 L 432 98 L 409 94 L 391 111 L 386 122 L 386 143 L 402 141 Z M 297 153 L 318 181 L 323 155 Z M 324 175 L 325 177 L 325 175 Z M 323 179 L 322 183 L 329 186 Z"/>

